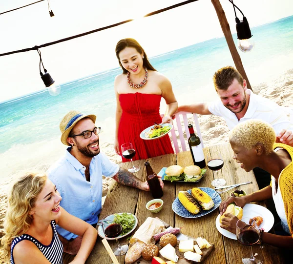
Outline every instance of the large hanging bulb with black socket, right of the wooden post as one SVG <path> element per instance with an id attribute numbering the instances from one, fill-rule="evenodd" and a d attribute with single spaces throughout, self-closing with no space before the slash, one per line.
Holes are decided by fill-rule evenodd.
<path id="1" fill-rule="evenodd" d="M 249 52 L 254 48 L 254 41 L 251 39 L 251 30 L 248 24 L 246 17 L 243 17 L 243 20 L 240 21 L 236 17 L 236 31 L 238 38 L 238 48 L 242 52 Z"/>

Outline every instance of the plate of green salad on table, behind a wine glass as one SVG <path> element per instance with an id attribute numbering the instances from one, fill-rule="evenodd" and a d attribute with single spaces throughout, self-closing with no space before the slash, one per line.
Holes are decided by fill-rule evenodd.
<path id="1" fill-rule="evenodd" d="M 136 216 L 130 213 L 118 213 L 118 214 L 109 215 L 107 219 L 109 220 L 114 219 L 115 223 L 120 223 L 122 225 L 122 233 L 120 236 L 117 237 L 118 239 L 129 235 L 137 226 Z M 107 240 L 115 240 L 115 238 L 108 238 L 105 236 L 102 224 L 99 225 L 98 227 L 98 234 L 101 238 L 105 238 Z"/>

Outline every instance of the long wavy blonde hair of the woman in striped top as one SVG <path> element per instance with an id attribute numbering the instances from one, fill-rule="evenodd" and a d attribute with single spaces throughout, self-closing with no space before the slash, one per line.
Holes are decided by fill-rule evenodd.
<path id="1" fill-rule="evenodd" d="M 33 217 L 29 212 L 35 207 L 38 195 L 41 193 L 47 180 L 43 172 L 31 172 L 22 176 L 13 184 L 8 196 L 4 228 L 5 235 L 1 239 L 7 261 L 10 258 L 11 243 L 14 238 L 21 236 L 29 229 Z"/>

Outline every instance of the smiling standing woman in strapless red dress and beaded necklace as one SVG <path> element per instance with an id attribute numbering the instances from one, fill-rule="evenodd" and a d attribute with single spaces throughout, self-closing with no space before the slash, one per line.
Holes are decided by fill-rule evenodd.
<path id="1" fill-rule="evenodd" d="M 178 104 L 171 82 L 154 69 L 144 49 L 134 39 L 119 41 L 116 56 L 123 73 L 117 75 L 114 82 L 117 101 L 115 152 L 121 155 L 121 145 L 131 142 L 136 150 L 133 160 L 174 153 L 168 136 L 156 140 L 142 140 L 139 136 L 154 122 L 172 122 L 171 116 Z M 167 104 L 163 120 L 160 116 L 162 97 Z M 122 157 L 122 161 L 128 160 Z"/>

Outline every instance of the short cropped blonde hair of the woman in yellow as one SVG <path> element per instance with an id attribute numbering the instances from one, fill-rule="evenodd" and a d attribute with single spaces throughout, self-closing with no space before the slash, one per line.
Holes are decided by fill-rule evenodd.
<path id="1" fill-rule="evenodd" d="M 251 150 L 257 143 L 261 143 L 266 154 L 270 154 L 273 151 L 276 134 L 267 122 L 251 119 L 235 126 L 230 132 L 229 140 L 248 150 Z"/>

